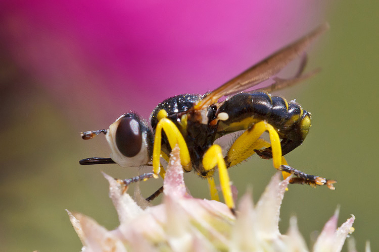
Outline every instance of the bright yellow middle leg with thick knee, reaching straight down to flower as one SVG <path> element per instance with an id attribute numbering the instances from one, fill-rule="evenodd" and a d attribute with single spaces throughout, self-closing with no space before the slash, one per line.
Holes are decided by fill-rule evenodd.
<path id="1" fill-rule="evenodd" d="M 206 171 L 212 170 L 218 166 L 218 174 L 220 176 L 220 185 L 225 204 L 234 210 L 234 202 L 231 194 L 230 179 L 226 169 L 225 161 L 222 156 L 222 150 L 219 145 L 212 145 L 203 157 L 203 167 Z"/>

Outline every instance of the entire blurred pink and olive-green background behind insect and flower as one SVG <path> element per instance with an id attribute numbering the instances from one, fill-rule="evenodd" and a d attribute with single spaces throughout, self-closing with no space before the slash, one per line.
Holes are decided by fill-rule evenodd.
<path id="1" fill-rule="evenodd" d="M 296 215 L 311 245 L 341 206 L 339 224 L 356 216 L 357 249 L 370 240 L 376 251 L 379 4 L 326 2 L 2 1 L 2 250 L 79 251 L 65 209 L 117 227 L 101 171 L 128 178 L 138 170 L 80 166 L 82 158 L 110 153 L 104 136 L 83 141 L 80 132 L 108 129 L 129 110 L 148 119 L 165 98 L 213 90 L 328 21 L 331 29 L 309 50 L 307 70 L 322 72 L 275 94 L 312 113 L 312 130 L 286 156 L 289 164 L 338 183 L 336 191 L 290 186 L 280 230 Z M 239 196 L 253 188 L 256 202 L 275 170 L 254 156 L 229 172 Z M 205 180 L 189 173 L 185 181 L 194 196 L 210 198 Z M 141 191 L 149 196 L 161 183 L 141 183 Z"/>

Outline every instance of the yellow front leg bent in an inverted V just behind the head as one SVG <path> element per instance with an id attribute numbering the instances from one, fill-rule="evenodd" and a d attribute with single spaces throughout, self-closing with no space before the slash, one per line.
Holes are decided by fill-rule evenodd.
<path id="1" fill-rule="evenodd" d="M 155 129 L 155 139 L 153 147 L 153 171 L 155 174 L 160 173 L 160 156 L 161 156 L 161 143 L 162 143 L 162 129 L 166 133 L 168 142 L 171 148 L 174 148 L 177 144 L 180 148 L 180 161 L 185 171 L 191 171 L 191 158 L 187 145 L 183 136 L 176 127 L 176 125 L 168 118 L 162 118 L 159 120 Z"/>

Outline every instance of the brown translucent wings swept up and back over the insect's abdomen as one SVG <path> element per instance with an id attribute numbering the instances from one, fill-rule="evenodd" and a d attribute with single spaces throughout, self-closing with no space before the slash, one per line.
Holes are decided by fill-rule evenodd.
<path id="1" fill-rule="evenodd" d="M 217 102 L 217 100 L 220 99 L 222 96 L 227 96 L 241 92 L 255 85 L 258 85 L 259 83 L 265 80 L 268 80 L 271 76 L 277 74 L 280 70 L 286 67 L 296 57 L 303 54 L 307 46 L 328 28 L 329 26 L 326 23 L 320 25 L 312 32 L 295 41 L 294 43 L 288 45 L 285 48 L 280 49 L 271 56 L 268 56 L 267 58 L 263 59 L 253 67 L 249 68 L 239 76 L 234 77 L 222 86 L 213 90 L 211 93 L 207 94 L 198 104 L 195 105 L 194 108 L 203 109 Z M 301 68 L 299 71 L 300 75 L 295 76 L 293 79 L 283 80 L 276 78 L 275 81 L 279 84 L 277 86 L 287 87 L 303 79 L 309 78 L 309 75 L 301 76 L 302 69 L 303 68 Z M 271 85 L 270 87 L 277 89 L 275 85 Z M 270 90 L 270 87 L 267 87 L 266 89 Z M 264 88 L 262 90 L 266 89 Z"/>

